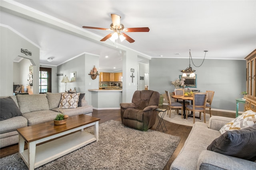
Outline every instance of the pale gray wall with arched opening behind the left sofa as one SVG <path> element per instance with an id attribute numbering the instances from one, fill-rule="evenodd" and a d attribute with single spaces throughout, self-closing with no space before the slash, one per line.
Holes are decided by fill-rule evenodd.
<path id="1" fill-rule="evenodd" d="M 16 57 L 29 59 L 33 63 L 33 79 L 39 78 L 39 48 L 28 39 L 21 37 L 10 27 L 0 26 L 0 96 L 12 96 L 13 92 L 13 61 Z M 21 53 L 21 49 L 28 49 L 32 56 Z M 28 68 L 29 69 L 29 68 Z M 27 75 L 26 75 L 27 77 Z M 39 93 L 39 81 L 33 81 L 33 93 Z M 26 85 L 26 84 L 23 84 Z"/>

